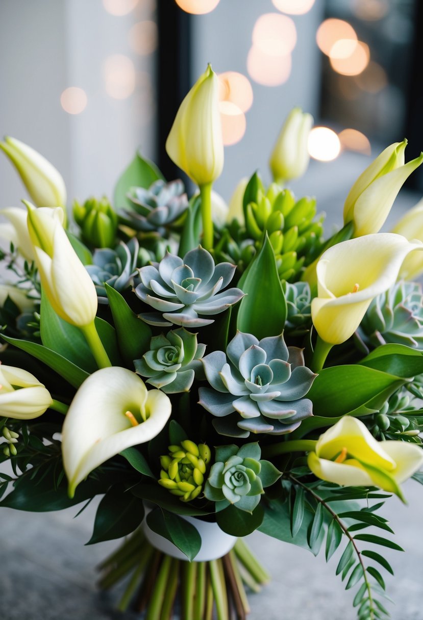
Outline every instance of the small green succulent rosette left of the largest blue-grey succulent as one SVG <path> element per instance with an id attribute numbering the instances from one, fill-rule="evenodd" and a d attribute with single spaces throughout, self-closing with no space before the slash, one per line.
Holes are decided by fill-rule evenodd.
<path id="1" fill-rule="evenodd" d="M 148 377 L 147 383 L 166 394 L 188 392 L 195 376 L 203 378 L 200 360 L 205 348 L 197 343 L 197 334 L 180 327 L 167 332 L 166 336 L 153 336 L 150 350 L 134 361 L 135 370 Z"/>

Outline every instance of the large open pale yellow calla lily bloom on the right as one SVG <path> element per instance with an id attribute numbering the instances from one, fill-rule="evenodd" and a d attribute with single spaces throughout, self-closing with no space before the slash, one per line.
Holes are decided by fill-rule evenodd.
<path id="1" fill-rule="evenodd" d="M 373 298 L 394 285 L 404 258 L 421 242 L 385 232 L 330 247 L 316 267 L 318 296 L 311 302 L 314 327 L 324 342 L 354 334 Z"/>

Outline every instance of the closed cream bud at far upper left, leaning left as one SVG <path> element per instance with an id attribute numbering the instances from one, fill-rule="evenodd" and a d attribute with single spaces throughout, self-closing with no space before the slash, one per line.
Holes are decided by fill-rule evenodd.
<path id="1" fill-rule="evenodd" d="M 0 148 L 16 167 L 35 205 L 65 207 L 65 182 L 60 172 L 45 157 L 9 136 L 0 142 Z"/>

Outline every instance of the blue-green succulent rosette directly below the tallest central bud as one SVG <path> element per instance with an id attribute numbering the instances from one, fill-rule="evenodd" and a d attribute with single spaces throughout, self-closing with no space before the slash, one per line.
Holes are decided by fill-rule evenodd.
<path id="1" fill-rule="evenodd" d="M 159 263 L 139 270 L 141 283 L 135 293 L 157 311 L 141 313 L 140 318 L 158 327 L 210 325 L 214 319 L 204 316 L 223 312 L 244 296 L 239 288 L 223 291 L 235 269 L 231 263 L 215 265 L 210 252 L 201 246 L 187 252 L 184 259 L 167 252 Z"/>

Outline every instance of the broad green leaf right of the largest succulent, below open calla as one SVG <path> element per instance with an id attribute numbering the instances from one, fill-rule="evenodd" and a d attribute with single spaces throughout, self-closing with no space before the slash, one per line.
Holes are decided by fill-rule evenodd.
<path id="1" fill-rule="evenodd" d="M 404 379 L 367 366 L 332 366 L 320 371 L 307 397 L 313 402 L 315 416 L 336 418 L 354 411 L 355 415 L 367 415 L 368 410 L 360 412 L 359 408 L 380 409 L 404 383 Z"/>

